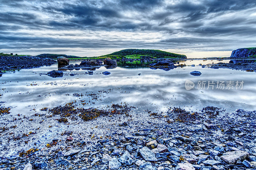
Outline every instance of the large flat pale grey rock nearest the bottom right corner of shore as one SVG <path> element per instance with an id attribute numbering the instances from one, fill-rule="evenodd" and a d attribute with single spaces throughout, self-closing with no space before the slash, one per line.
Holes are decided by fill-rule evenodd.
<path id="1" fill-rule="evenodd" d="M 235 164 L 236 161 L 244 161 L 246 158 L 248 158 L 249 153 L 244 151 L 232 151 L 232 152 L 225 152 L 220 157 L 223 161 L 225 161 L 228 164 Z"/>

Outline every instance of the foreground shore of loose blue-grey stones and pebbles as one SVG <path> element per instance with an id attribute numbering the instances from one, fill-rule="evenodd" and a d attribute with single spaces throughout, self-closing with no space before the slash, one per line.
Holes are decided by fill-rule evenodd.
<path id="1" fill-rule="evenodd" d="M 120 121 L 113 112 L 103 115 L 106 121 L 116 122 L 108 129 L 104 125 L 95 127 L 97 131 L 104 130 L 104 136 L 96 131 L 85 138 L 82 131 L 65 130 L 60 132 L 60 139 L 53 139 L 46 146 L 36 145 L 20 151 L 19 155 L 2 156 L 0 169 L 244 170 L 256 167 L 256 111 L 238 109 L 227 113 L 208 106 L 192 112 L 170 107 L 165 113 L 147 111 L 144 121 L 138 121 L 138 115 L 132 114 L 127 105 L 114 106 L 120 111 L 125 108 L 123 118 L 119 115 L 119 119 L 126 121 Z M 74 112 L 70 114 L 72 118 Z M 43 117 L 38 119 L 47 121 Z M 12 129 L 6 129 L 5 133 L 10 133 L 9 130 Z"/>

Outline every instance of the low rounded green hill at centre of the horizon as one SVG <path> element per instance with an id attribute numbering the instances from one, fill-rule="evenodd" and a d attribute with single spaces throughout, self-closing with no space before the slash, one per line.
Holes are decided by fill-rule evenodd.
<path id="1" fill-rule="evenodd" d="M 116 51 L 111 54 L 101 55 L 99 57 L 103 58 L 106 56 L 116 56 L 117 58 L 119 57 L 140 58 L 140 55 L 149 55 L 156 58 L 187 58 L 186 55 L 175 54 L 175 53 L 170 53 L 170 52 L 155 50 L 155 49 L 124 49 L 124 50 Z"/>

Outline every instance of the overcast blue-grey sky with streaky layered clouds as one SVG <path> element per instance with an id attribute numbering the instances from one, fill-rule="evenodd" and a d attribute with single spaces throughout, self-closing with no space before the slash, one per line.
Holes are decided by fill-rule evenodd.
<path id="1" fill-rule="evenodd" d="M 0 52 L 188 57 L 256 47 L 256 0 L 0 0 Z"/>

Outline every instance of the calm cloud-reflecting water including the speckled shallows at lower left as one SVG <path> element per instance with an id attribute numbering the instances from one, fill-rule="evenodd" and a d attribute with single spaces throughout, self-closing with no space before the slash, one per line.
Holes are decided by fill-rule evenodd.
<path id="1" fill-rule="evenodd" d="M 203 63 L 204 62 L 204 63 Z M 207 64 L 206 62 L 219 61 L 187 61 L 187 65 Z M 223 62 L 223 61 L 222 61 Z M 225 61 L 228 62 L 228 61 Z M 80 62 L 71 62 L 73 64 Z M 120 122 L 134 122 L 135 126 L 131 129 L 143 126 L 148 121 L 164 121 L 149 117 L 144 110 L 165 111 L 169 106 L 182 107 L 187 110 L 202 109 L 208 105 L 225 108 L 227 111 L 235 111 L 238 108 L 246 110 L 256 110 L 256 74 L 255 72 L 246 72 L 229 69 L 210 69 L 196 67 L 176 68 L 169 71 L 151 70 L 149 68 L 131 69 L 127 67 L 117 67 L 115 69 L 106 69 L 100 67 L 96 69 L 93 75 L 85 74 L 87 70 L 72 70 L 64 72 L 62 78 L 52 78 L 45 75 L 51 70 L 57 70 L 57 64 L 44 66 L 34 69 L 23 69 L 15 73 L 3 74 L 0 78 L 0 101 L 2 106 L 12 107 L 9 115 L 1 116 L 0 126 L 11 127 L 17 125 L 17 128 L 11 129 L 12 135 L 6 131 L 6 135 L 0 138 L 0 157 L 17 156 L 21 150 L 28 150 L 32 147 L 45 148 L 45 145 L 51 143 L 53 139 L 65 141 L 66 136 L 60 136 L 65 130 L 73 131 L 73 138 L 88 139 L 91 141 L 90 134 L 95 135 L 95 140 L 107 133 L 112 134 L 113 130 L 120 131 Z M 192 76 L 191 71 L 201 71 L 201 76 Z M 103 71 L 111 72 L 105 76 Z M 75 73 L 71 77 L 69 74 Z M 138 74 L 141 73 L 139 76 Z M 195 84 L 194 89 L 186 90 L 185 82 L 190 80 Z M 200 81 L 244 81 L 243 89 L 197 89 L 197 83 Z M 213 83 L 214 83 L 213 82 Z M 106 92 L 100 93 L 99 91 Z M 87 92 L 87 93 L 86 93 Z M 74 93 L 83 93 L 84 96 L 76 97 Z M 85 94 L 98 93 L 98 100 L 92 100 L 92 97 Z M 131 113 L 132 119 L 125 115 L 113 117 L 99 117 L 93 121 L 84 122 L 81 119 L 76 121 L 68 120 L 68 123 L 59 123 L 56 117 L 44 118 L 31 116 L 35 113 L 45 113 L 40 111 L 43 107 L 56 107 L 64 105 L 71 101 L 79 100 L 88 102 L 88 105 L 80 107 L 104 107 L 112 103 L 126 102 L 135 106 Z M 90 102 L 89 102 L 90 100 Z M 92 103 L 93 102 L 93 103 Z M 79 106 L 78 106 L 79 107 Z M 21 116 L 17 116 L 20 114 Z M 22 118 L 13 121 L 14 118 Z M 33 119 L 33 121 L 29 121 Z M 44 120 L 44 122 L 41 122 Z M 51 128 L 50 128 L 51 125 Z M 97 127 L 97 128 L 96 128 Z M 111 129 L 108 129 L 111 127 Z M 111 131 L 112 130 L 112 131 Z M 21 140 L 11 140 L 9 137 L 17 137 L 20 134 L 29 132 L 36 134 Z M 123 132 L 123 131 L 122 131 Z M 125 133 L 125 132 L 123 132 Z M 27 140 L 25 144 L 23 141 Z M 35 145 L 36 144 L 36 145 Z M 56 146 L 60 147 L 60 146 Z"/>

